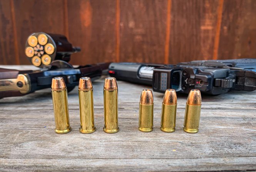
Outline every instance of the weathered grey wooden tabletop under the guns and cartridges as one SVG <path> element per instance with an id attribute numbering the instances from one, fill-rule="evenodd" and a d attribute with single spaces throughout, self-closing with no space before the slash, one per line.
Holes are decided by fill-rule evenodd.
<path id="1" fill-rule="evenodd" d="M 3 67 L 3 66 L 0 66 Z M 177 94 L 176 131 L 160 130 L 162 93 L 154 95 L 154 130 L 138 130 L 139 98 L 149 86 L 118 81 L 119 127 L 103 132 L 104 78 L 93 82 L 95 126 L 79 132 L 77 87 L 69 93 L 72 131 L 54 132 L 49 89 L 0 100 L 0 171 L 256 170 L 256 92 L 202 95 L 199 133 L 183 128 L 187 95 Z"/>

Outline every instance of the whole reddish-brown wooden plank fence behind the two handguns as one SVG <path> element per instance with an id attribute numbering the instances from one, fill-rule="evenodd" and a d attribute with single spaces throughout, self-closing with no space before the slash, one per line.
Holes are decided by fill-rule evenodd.
<path id="1" fill-rule="evenodd" d="M 255 0 L 0 0 L 0 64 L 29 64 L 30 33 L 67 36 L 72 64 L 256 57 Z"/>

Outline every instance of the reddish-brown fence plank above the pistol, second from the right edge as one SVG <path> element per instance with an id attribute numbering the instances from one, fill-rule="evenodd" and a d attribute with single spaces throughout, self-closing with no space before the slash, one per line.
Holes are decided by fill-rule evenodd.
<path id="1" fill-rule="evenodd" d="M 212 59 L 218 0 L 172 1 L 169 63 Z"/>

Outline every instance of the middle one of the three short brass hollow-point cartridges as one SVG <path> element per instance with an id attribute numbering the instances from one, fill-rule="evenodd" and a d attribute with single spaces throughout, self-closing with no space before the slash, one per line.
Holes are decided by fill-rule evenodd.
<path id="1" fill-rule="evenodd" d="M 174 89 L 167 89 L 162 102 L 161 131 L 175 131 L 177 95 Z"/>

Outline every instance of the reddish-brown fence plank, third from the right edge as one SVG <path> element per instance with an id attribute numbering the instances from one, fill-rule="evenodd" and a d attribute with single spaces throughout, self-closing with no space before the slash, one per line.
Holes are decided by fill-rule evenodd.
<path id="1" fill-rule="evenodd" d="M 120 61 L 164 63 L 167 1 L 120 1 Z"/>

